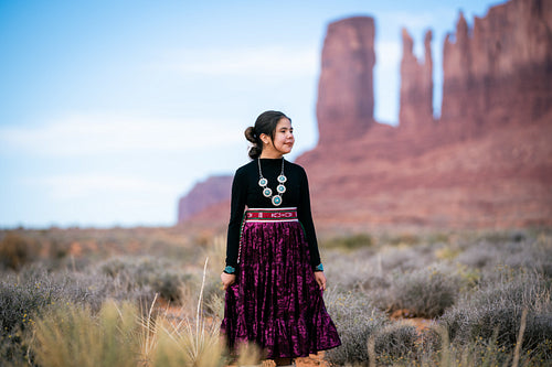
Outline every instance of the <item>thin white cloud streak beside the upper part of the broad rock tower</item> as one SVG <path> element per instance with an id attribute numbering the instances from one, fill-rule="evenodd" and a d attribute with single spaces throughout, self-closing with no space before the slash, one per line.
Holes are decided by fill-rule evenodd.
<path id="1" fill-rule="evenodd" d="M 185 50 L 168 55 L 162 67 L 182 74 L 211 76 L 314 76 L 318 71 L 316 47 Z"/>

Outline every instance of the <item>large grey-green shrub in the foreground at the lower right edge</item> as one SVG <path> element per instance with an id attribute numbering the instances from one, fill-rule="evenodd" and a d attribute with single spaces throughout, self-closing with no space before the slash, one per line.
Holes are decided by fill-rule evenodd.
<path id="1" fill-rule="evenodd" d="M 477 291 L 465 295 L 445 312 L 440 322 L 446 325 L 455 343 L 487 341 L 496 333 L 496 343 L 511 350 L 516 345 L 523 310 L 528 310 L 523 348 L 537 350 L 550 346 L 550 279 L 535 272 L 499 269 L 495 277 L 485 279 Z M 552 358 L 552 352 L 545 355 Z"/>

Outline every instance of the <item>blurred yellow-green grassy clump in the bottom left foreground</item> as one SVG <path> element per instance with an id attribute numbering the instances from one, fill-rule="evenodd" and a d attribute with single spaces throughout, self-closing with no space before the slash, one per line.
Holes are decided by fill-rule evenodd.
<path id="1" fill-rule="evenodd" d="M 136 306 L 105 303 L 99 313 L 68 304 L 36 320 L 34 355 L 44 367 L 136 366 Z"/>

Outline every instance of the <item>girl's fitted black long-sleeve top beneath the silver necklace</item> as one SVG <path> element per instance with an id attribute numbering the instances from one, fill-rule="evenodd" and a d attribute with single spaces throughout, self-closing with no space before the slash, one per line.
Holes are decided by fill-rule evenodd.
<path id="1" fill-rule="evenodd" d="M 268 180 L 268 187 L 276 193 L 277 177 L 282 172 L 282 159 L 261 159 L 263 176 Z M 310 263 L 315 268 L 320 265 L 320 253 L 316 239 L 312 214 L 310 213 L 310 194 L 305 170 L 295 163 L 284 161 L 286 192 L 282 195 L 278 207 L 297 207 L 297 216 L 302 225 L 309 246 Z M 257 160 L 237 169 L 232 183 L 232 199 L 230 223 L 226 241 L 226 265 L 237 267 L 237 252 L 240 247 L 240 231 L 245 206 L 250 208 L 275 208 L 270 197 L 263 195 L 259 180 Z"/>

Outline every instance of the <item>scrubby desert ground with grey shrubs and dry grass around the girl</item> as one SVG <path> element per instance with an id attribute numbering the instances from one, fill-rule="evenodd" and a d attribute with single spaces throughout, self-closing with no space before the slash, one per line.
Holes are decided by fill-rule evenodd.
<path id="1" fill-rule="evenodd" d="M 342 346 L 298 366 L 545 366 L 552 229 L 325 233 Z M 0 364 L 227 366 L 220 230 L 0 231 Z M 269 360 L 263 363 L 270 366 Z"/>

